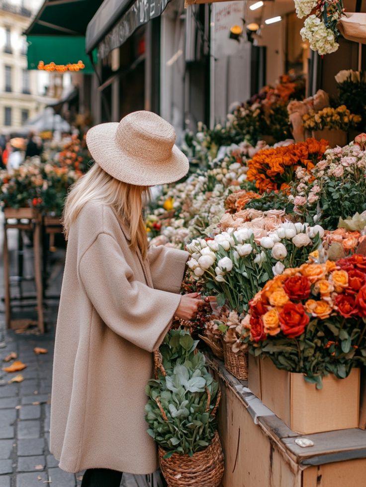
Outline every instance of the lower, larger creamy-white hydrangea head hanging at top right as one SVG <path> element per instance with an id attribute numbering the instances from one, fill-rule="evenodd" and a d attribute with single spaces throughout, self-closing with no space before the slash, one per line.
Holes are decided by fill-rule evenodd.
<path id="1" fill-rule="evenodd" d="M 308 40 L 310 49 L 318 51 L 323 56 L 335 52 L 339 44 L 331 29 L 328 29 L 316 15 L 309 15 L 300 30 L 302 40 Z"/>

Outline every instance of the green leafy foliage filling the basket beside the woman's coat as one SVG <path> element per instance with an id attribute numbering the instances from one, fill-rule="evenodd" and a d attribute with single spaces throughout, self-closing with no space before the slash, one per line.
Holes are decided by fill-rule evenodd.
<path id="1" fill-rule="evenodd" d="M 218 383 L 209 373 L 204 355 L 196 350 L 197 344 L 183 329 L 168 333 L 160 348 L 167 375 L 159 371 L 158 378 L 146 386 L 148 433 L 167 452 L 166 458 L 174 453 L 192 456 L 206 448 L 215 434 L 212 411 Z"/>

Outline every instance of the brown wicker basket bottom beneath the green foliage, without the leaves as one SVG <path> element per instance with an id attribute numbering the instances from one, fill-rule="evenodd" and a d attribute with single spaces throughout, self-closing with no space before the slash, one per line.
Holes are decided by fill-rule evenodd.
<path id="1" fill-rule="evenodd" d="M 211 444 L 201 452 L 189 455 L 175 453 L 164 458 L 159 447 L 160 468 L 168 487 L 218 487 L 224 473 L 224 455 L 217 431 Z"/>

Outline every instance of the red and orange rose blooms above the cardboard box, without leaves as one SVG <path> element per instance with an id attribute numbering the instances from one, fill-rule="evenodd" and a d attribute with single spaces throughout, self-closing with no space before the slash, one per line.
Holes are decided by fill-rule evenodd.
<path id="1" fill-rule="evenodd" d="M 366 317 L 366 257 L 285 269 L 256 294 L 249 313 L 250 339 L 256 343 L 279 333 L 299 337 L 310 318 Z"/>

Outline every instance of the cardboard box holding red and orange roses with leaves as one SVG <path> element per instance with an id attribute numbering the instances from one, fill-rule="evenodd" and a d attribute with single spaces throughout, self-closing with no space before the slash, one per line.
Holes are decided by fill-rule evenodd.
<path id="1" fill-rule="evenodd" d="M 264 358 L 262 400 L 291 429 L 358 427 L 365 256 L 285 269 L 256 294 L 241 326 L 250 353 Z"/>

